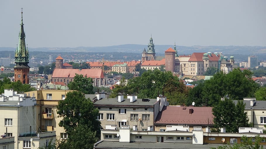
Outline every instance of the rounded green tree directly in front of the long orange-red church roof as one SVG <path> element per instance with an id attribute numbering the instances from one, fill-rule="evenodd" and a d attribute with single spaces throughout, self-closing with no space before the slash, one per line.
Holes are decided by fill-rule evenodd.
<path id="1" fill-rule="evenodd" d="M 76 74 L 73 81 L 69 82 L 68 88 L 70 90 L 77 90 L 84 94 L 93 94 L 93 81 L 90 77 L 84 76 L 82 74 Z"/>

